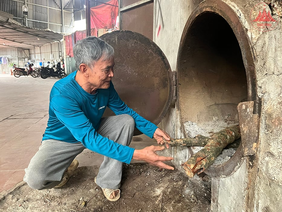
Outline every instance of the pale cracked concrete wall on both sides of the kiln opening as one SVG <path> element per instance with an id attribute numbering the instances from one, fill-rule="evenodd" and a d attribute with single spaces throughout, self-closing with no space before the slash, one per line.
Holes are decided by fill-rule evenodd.
<path id="1" fill-rule="evenodd" d="M 156 3 L 155 42 L 166 55 L 171 69 L 176 69 L 177 52 L 185 23 L 201 1 L 178 0 Z M 277 27 L 271 31 L 259 31 L 252 26 L 251 9 L 261 1 L 225 0 L 240 18 L 248 33 L 253 50 L 257 97 L 261 100 L 258 152 L 245 156 L 238 171 L 229 177 L 212 180 L 212 211 L 281 211 L 282 207 L 282 3 L 272 0 L 273 16 Z M 160 10 L 164 26 L 159 35 Z M 278 15 L 277 15 L 278 11 Z M 245 64 L 248 65 L 248 64 Z M 176 70 L 177 71 L 177 70 Z M 172 106 L 159 124 L 171 137 L 183 137 L 180 117 Z M 171 148 L 167 153 L 175 158 L 174 165 L 180 170 L 181 163 L 190 157 L 186 148 Z"/>

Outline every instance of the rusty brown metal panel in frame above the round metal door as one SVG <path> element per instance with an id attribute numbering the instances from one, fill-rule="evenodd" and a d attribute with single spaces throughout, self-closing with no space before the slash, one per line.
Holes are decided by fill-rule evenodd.
<path id="1" fill-rule="evenodd" d="M 121 14 L 122 30 L 135 31 L 153 40 L 154 2 L 121 12 Z"/>

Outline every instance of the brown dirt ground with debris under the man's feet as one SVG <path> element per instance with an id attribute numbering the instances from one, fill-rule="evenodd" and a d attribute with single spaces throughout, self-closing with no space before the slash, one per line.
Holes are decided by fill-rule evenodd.
<path id="1" fill-rule="evenodd" d="M 33 190 L 24 184 L 0 201 L 0 211 L 121 211 L 121 212 L 208 212 L 211 185 L 207 175 L 192 179 L 179 170 L 158 171 L 144 163 L 125 164 L 121 198 L 105 199 L 94 183 L 99 166 L 79 167 L 61 188 Z"/>

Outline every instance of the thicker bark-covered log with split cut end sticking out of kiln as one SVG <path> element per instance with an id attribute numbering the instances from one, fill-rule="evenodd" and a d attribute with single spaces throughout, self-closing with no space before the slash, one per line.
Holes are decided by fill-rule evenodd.
<path id="1" fill-rule="evenodd" d="M 222 152 L 224 147 L 240 137 L 239 125 L 225 128 L 214 133 L 203 149 L 182 164 L 185 173 L 189 177 L 193 177 L 196 173 L 202 173 L 216 160 L 216 157 Z"/>

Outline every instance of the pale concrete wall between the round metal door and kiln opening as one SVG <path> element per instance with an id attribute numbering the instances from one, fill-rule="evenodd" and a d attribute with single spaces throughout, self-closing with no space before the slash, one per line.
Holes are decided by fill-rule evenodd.
<path id="1" fill-rule="evenodd" d="M 189 18 L 193 8 L 196 7 L 201 0 L 179 0 L 179 1 L 158 1 L 155 3 L 155 36 L 154 42 L 161 48 L 170 63 L 172 71 L 176 70 L 177 54 L 182 36 L 183 28 Z M 158 29 L 160 31 L 158 33 Z M 181 132 L 179 115 L 175 107 L 171 107 L 166 117 L 159 124 L 161 128 L 165 128 L 172 137 L 183 137 Z M 174 148 L 183 152 L 182 148 Z M 185 152 L 185 150 L 184 150 Z M 183 153 L 186 155 L 186 153 Z M 189 154 L 189 153 L 188 153 Z"/>

